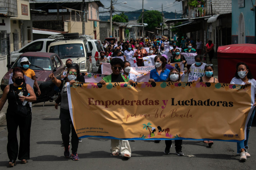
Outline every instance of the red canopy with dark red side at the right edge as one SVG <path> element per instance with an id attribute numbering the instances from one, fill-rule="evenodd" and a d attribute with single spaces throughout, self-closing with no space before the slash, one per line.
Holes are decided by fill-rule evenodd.
<path id="1" fill-rule="evenodd" d="M 256 78 L 256 44 L 232 44 L 218 47 L 218 80 L 230 83 L 236 72 L 236 64 L 246 63 Z"/>

